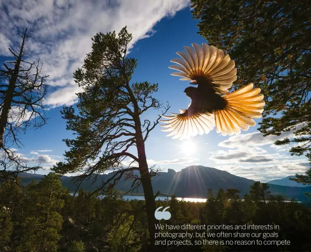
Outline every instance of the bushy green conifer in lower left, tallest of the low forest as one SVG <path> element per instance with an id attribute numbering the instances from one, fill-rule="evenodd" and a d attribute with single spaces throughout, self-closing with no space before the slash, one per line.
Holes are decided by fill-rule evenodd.
<path id="1" fill-rule="evenodd" d="M 48 173 L 38 183 L 26 188 L 23 205 L 25 217 L 21 221 L 21 240 L 17 252 L 56 252 L 63 217 L 58 212 L 64 207 L 61 200 L 60 176 Z M 31 202 L 31 204 L 29 204 Z"/>

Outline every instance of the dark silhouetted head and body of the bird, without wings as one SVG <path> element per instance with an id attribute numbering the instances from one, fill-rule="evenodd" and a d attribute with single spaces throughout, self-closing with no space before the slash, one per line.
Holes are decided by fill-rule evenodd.
<path id="1" fill-rule="evenodd" d="M 189 116 L 195 113 L 214 113 L 224 109 L 227 104 L 209 83 L 198 83 L 198 87 L 189 86 L 184 92 L 191 98 L 191 105 L 187 111 Z"/>

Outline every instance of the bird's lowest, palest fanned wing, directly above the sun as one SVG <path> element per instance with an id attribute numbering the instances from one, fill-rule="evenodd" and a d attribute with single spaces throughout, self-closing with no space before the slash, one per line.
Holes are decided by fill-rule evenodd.
<path id="1" fill-rule="evenodd" d="M 171 113 L 173 116 L 162 116 L 168 120 L 160 120 L 166 125 L 162 131 L 172 131 L 167 136 L 172 138 L 187 139 L 197 134 L 207 134 L 215 126 L 215 118 L 210 113 L 189 113 L 189 110 L 180 109 L 180 114 Z"/>

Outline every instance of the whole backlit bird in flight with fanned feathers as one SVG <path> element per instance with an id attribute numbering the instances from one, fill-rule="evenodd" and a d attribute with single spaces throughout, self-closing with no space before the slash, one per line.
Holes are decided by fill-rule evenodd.
<path id="1" fill-rule="evenodd" d="M 179 109 L 180 114 L 164 116 L 168 120 L 162 131 L 172 131 L 167 136 L 186 139 L 197 134 L 209 133 L 214 126 L 222 135 L 240 134 L 241 129 L 255 126 L 253 118 L 261 118 L 264 111 L 264 95 L 260 88 L 250 83 L 234 92 L 228 89 L 236 81 L 237 69 L 228 54 L 215 46 L 192 43 L 193 48 L 184 46 L 187 52 L 177 52 L 181 58 L 171 60 L 178 65 L 169 68 L 179 72 L 171 75 L 190 81 L 184 89 L 191 99 L 188 109 Z"/>

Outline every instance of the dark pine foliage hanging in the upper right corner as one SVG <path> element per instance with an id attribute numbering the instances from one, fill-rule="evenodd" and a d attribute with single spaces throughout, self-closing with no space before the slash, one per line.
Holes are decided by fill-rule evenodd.
<path id="1" fill-rule="evenodd" d="M 265 95 L 260 131 L 295 137 L 292 155 L 311 161 L 311 1 L 192 0 L 199 34 L 228 52 L 240 88 L 253 82 Z"/>

